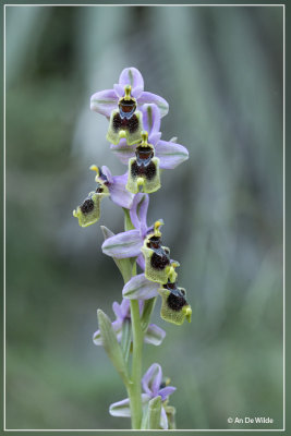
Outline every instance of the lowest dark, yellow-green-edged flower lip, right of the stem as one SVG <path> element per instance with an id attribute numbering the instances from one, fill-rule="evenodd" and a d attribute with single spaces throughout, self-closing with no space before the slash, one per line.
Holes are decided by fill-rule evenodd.
<path id="1" fill-rule="evenodd" d="M 162 300 L 160 308 L 162 319 L 179 326 L 184 323 L 185 318 L 191 323 L 192 308 L 185 299 L 186 291 L 183 288 L 168 282 L 160 287 L 159 293 Z"/>

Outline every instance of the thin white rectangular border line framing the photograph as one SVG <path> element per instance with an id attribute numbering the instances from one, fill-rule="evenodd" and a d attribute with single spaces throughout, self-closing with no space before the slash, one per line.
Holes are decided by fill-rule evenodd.
<path id="1" fill-rule="evenodd" d="M 195 428 L 195 429 L 171 429 L 168 432 L 286 432 L 286 4 L 3 4 L 3 432 L 163 432 L 159 429 L 83 429 L 83 428 L 38 428 L 38 429 L 17 429 L 17 428 L 5 428 L 5 9 L 7 8 L 27 8 L 27 7 L 163 7 L 163 8 L 208 8 L 208 7 L 268 7 L 268 8 L 283 8 L 283 428 L 222 428 L 222 429 L 211 429 L 211 428 Z"/>

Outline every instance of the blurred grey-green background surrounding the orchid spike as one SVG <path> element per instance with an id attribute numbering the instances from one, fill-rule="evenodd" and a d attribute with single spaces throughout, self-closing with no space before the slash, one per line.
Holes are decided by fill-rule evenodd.
<path id="1" fill-rule="evenodd" d="M 99 226 L 72 217 L 92 164 L 125 170 L 89 97 L 126 66 L 169 101 L 162 138 L 190 152 L 148 222 L 166 222 L 193 320 L 167 324 L 157 305 L 167 337 L 144 371 L 158 362 L 178 387 L 178 428 L 282 427 L 282 24 L 281 7 L 7 8 L 8 428 L 130 426 L 108 414 L 126 395 L 92 341 L 122 279 Z M 122 220 L 104 201 L 100 225 Z"/>

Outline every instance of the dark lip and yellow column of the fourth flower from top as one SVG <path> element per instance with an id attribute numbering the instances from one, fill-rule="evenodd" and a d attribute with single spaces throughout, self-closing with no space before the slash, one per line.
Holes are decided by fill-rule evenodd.
<path id="1" fill-rule="evenodd" d="M 172 282 L 177 279 L 175 268 L 178 262 L 170 259 L 170 250 L 161 245 L 161 233 L 159 231 L 162 221 L 156 221 L 154 232 L 149 233 L 144 241 L 142 252 L 145 258 L 145 277 L 159 283 Z"/>

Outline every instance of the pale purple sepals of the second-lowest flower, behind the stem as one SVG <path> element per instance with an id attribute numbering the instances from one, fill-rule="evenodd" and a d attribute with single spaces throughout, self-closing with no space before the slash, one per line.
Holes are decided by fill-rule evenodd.
<path id="1" fill-rule="evenodd" d="M 144 302 L 140 302 L 140 312 L 143 312 Z M 122 327 L 126 322 L 131 322 L 131 311 L 130 311 L 130 300 L 123 299 L 121 304 L 116 301 L 112 304 L 112 310 L 116 314 L 116 320 L 111 323 L 112 328 L 117 335 L 118 342 L 121 342 L 122 338 Z M 166 331 L 162 328 L 156 326 L 155 324 L 149 324 L 145 336 L 145 343 L 150 343 L 153 346 L 160 346 L 163 338 L 166 337 Z M 93 342 L 95 346 L 102 346 L 102 338 L 100 335 L 100 330 L 95 331 L 93 335 Z"/>

